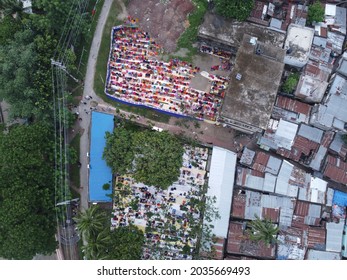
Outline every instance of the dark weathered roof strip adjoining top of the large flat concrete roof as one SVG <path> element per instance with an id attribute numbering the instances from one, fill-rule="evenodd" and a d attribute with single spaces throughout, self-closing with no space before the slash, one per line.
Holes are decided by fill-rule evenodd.
<path id="1" fill-rule="evenodd" d="M 259 41 L 279 48 L 283 47 L 285 40 L 283 33 L 248 22 L 227 20 L 209 12 L 206 13 L 198 31 L 200 39 L 213 40 L 236 50 L 242 44 L 244 34 L 257 37 Z"/>

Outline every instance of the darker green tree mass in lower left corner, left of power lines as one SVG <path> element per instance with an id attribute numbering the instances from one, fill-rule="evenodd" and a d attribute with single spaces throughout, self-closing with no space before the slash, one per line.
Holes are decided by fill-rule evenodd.
<path id="1" fill-rule="evenodd" d="M 0 256 L 32 259 L 57 247 L 52 128 L 15 125 L 0 134 Z"/>

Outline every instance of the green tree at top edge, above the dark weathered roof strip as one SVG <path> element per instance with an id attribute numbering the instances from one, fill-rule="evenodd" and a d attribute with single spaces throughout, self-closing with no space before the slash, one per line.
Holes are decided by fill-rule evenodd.
<path id="1" fill-rule="evenodd" d="M 245 21 L 254 7 L 254 0 L 214 0 L 214 3 L 217 14 L 239 21 Z"/>

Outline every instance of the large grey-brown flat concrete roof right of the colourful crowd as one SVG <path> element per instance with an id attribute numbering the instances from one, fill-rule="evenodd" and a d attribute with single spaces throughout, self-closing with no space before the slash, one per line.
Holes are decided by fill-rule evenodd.
<path id="1" fill-rule="evenodd" d="M 220 117 L 266 129 L 284 68 L 285 51 L 245 34 Z M 237 77 L 238 76 L 238 77 Z"/>

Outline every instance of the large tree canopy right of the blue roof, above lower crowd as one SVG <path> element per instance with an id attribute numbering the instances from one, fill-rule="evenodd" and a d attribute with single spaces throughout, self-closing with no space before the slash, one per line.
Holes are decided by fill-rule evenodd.
<path id="1" fill-rule="evenodd" d="M 166 131 L 118 127 L 106 134 L 103 156 L 113 172 L 166 189 L 179 177 L 183 152 L 179 139 Z"/>

